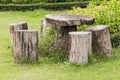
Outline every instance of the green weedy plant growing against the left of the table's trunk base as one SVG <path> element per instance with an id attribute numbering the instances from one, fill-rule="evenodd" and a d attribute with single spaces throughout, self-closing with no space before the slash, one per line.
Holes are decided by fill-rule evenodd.
<path id="1" fill-rule="evenodd" d="M 47 27 L 44 36 L 39 40 L 39 55 L 48 58 L 52 62 L 67 60 L 67 54 L 61 50 L 51 50 L 51 44 L 57 36 L 57 28 Z"/>

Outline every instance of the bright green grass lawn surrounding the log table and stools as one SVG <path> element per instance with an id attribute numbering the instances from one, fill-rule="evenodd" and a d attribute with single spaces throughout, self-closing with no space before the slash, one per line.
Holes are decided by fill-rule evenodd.
<path id="1" fill-rule="evenodd" d="M 40 19 L 48 13 L 66 11 L 0 12 L 0 80 L 119 80 L 120 48 L 114 50 L 113 58 L 93 58 L 86 65 L 54 63 L 42 58 L 37 64 L 14 64 L 9 24 L 27 21 L 29 29 L 39 31 Z"/>

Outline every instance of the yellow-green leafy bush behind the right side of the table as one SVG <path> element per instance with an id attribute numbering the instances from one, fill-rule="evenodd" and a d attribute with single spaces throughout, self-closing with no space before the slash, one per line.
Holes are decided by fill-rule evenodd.
<path id="1" fill-rule="evenodd" d="M 95 18 L 94 25 L 108 25 L 111 33 L 120 31 L 120 2 L 92 1 L 87 8 L 73 7 L 72 14 L 84 14 Z"/>

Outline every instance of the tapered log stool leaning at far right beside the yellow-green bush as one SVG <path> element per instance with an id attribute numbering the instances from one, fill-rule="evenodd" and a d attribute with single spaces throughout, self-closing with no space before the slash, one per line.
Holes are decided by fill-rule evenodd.
<path id="1" fill-rule="evenodd" d="M 110 33 L 107 25 L 97 25 L 87 28 L 86 31 L 92 32 L 92 49 L 93 52 L 101 56 L 111 57 L 112 46 Z"/>

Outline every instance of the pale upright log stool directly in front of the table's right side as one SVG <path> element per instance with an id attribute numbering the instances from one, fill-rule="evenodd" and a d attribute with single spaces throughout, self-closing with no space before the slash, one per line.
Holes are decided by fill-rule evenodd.
<path id="1" fill-rule="evenodd" d="M 85 64 L 88 62 L 88 54 L 91 53 L 91 32 L 69 33 L 69 62 Z"/>

